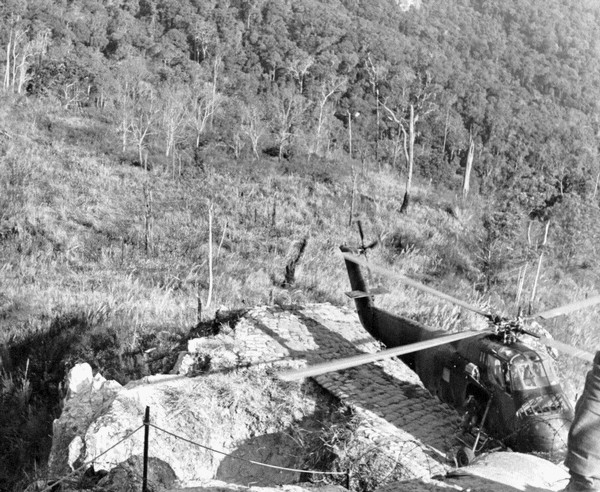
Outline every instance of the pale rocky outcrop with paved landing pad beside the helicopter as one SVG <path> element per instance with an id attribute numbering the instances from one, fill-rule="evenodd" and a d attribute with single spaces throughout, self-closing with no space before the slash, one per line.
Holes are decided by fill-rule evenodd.
<path id="1" fill-rule="evenodd" d="M 307 455 L 316 451 L 338 469 L 352 469 L 356 482 L 368 479 L 370 490 L 406 479 L 411 487 L 429 487 L 434 476 L 451 470 L 445 456 L 458 419 L 402 362 L 318 376 L 327 391 L 276 377 L 284 368 L 378 349 L 351 310 L 270 306 L 247 312 L 215 337 L 190 340 L 172 374 L 121 386 L 78 365 L 54 425 L 51 474 L 93 466 L 106 475 L 105 490 L 118 490 L 111 484 L 119 477 L 141 474 L 141 426 L 149 407 L 149 452 L 156 470 L 164 471 L 163 485 L 170 472 L 178 487 L 197 490 L 225 490 L 211 489 L 214 480 L 238 489 L 297 483 L 297 472 L 251 461 L 306 469 L 313 467 Z M 340 400 L 352 411 L 338 411 Z M 332 415 L 346 420 L 333 428 Z"/>

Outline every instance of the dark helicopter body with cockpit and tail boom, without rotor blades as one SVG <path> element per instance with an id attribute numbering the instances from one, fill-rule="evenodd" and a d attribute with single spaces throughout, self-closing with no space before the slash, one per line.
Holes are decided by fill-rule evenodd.
<path id="1" fill-rule="evenodd" d="M 352 289 L 368 292 L 359 265 L 346 267 Z M 388 348 L 448 334 L 379 309 L 370 296 L 355 303 L 363 327 Z M 482 332 L 400 358 L 434 396 L 507 446 L 551 455 L 566 449 L 573 408 L 545 354 Z"/>

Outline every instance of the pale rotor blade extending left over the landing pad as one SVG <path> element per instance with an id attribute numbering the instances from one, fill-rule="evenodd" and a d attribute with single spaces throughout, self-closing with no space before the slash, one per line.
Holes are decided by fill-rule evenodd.
<path id="1" fill-rule="evenodd" d="M 389 359 L 390 357 L 396 357 L 398 355 L 410 354 L 412 352 L 418 352 L 419 350 L 425 350 L 439 345 L 445 345 L 447 343 L 456 342 L 465 338 L 475 337 L 477 335 L 485 335 L 488 331 L 463 331 L 460 333 L 453 333 L 451 335 L 445 335 L 437 338 L 431 338 L 422 342 L 411 343 L 408 345 L 402 345 L 400 347 L 394 347 L 374 354 L 359 354 L 352 357 L 346 357 L 344 359 L 338 359 L 321 364 L 315 364 L 308 366 L 304 369 L 297 369 L 294 371 L 287 371 L 279 374 L 279 378 L 284 381 L 295 381 L 297 379 L 304 379 L 313 376 L 319 376 L 320 374 L 326 374 L 329 372 L 340 371 L 342 369 L 349 369 L 350 367 L 356 367 L 369 362 L 375 362 L 378 360 Z"/>

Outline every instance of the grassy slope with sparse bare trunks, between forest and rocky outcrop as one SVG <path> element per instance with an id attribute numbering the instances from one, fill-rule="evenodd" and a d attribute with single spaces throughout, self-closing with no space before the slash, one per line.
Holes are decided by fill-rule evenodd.
<path id="1" fill-rule="evenodd" d="M 173 350 L 197 325 L 199 299 L 208 322 L 261 303 L 348 304 L 336 252 L 358 243 L 357 219 L 367 241 L 380 239 L 374 261 L 452 295 L 513 314 L 524 260 L 525 300 L 531 292 L 543 228 L 533 223 L 528 242 L 528 219 L 510 203 L 463 201 L 420 182 L 401 214 L 397 170 L 342 156 L 236 160 L 215 147 L 203 165 L 173 168 L 150 147 L 145 170 L 135 149 L 120 152 L 101 113 L 12 96 L 0 107 L 0 432 L 11 443 L 0 482 L 18 482 L 34 462 L 43 467 L 68 364 L 87 360 L 122 382 L 156 370 L 143 351 Z M 556 210 L 534 310 L 598 290 L 594 227 L 586 226 L 598 212 L 567 200 Z M 283 286 L 304 239 L 296 281 Z M 445 328 L 481 323 L 403 287 L 381 302 Z M 546 327 L 591 348 L 594 317 L 592 309 Z M 583 366 L 560 365 L 578 391 Z"/>

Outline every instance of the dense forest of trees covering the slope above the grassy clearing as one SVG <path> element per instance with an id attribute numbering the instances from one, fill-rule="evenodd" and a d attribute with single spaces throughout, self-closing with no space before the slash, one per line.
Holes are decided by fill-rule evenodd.
<path id="1" fill-rule="evenodd" d="M 422 177 L 457 186 L 471 148 L 480 190 L 537 216 L 597 194 L 593 1 L 29 0 L 0 15 L 5 90 L 101 109 L 140 160 L 218 147 L 400 169 L 407 139 Z"/>

